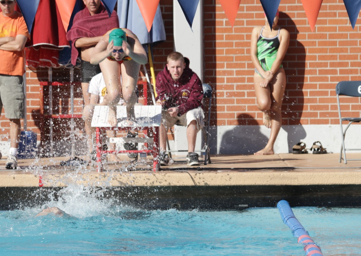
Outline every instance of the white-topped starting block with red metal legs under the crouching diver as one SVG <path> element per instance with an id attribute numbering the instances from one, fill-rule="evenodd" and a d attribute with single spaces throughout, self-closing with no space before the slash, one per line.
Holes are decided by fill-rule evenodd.
<path id="1" fill-rule="evenodd" d="M 127 120 L 126 106 L 117 106 L 117 126 L 110 126 L 108 123 L 108 106 L 95 106 L 92 127 L 96 127 L 96 161 L 97 171 L 101 172 L 102 162 L 101 155 L 106 153 L 152 153 L 153 154 L 153 171 L 159 169 L 159 126 L 162 118 L 162 106 L 141 105 L 134 106 L 135 120 L 130 125 Z M 127 142 L 153 142 L 153 148 L 147 150 L 122 150 L 108 151 L 102 150 L 100 130 L 152 130 L 153 139 L 150 138 L 124 138 Z"/>

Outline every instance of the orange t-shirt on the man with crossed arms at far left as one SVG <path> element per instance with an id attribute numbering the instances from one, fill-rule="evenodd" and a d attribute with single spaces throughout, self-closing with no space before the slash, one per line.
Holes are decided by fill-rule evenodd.
<path id="1" fill-rule="evenodd" d="M 21 13 L 16 12 L 12 17 L 4 16 L 0 12 L 0 37 L 25 35 L 30 40 L 29 31 Z M 0 50 L 0 74 L 23 75 L 25 72 L 25 48 L 18 52 Z"/>

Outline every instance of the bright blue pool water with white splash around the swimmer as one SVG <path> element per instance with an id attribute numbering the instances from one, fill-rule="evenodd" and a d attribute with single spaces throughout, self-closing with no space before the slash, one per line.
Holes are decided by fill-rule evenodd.
<path id="1" fill-rule="evenodd" d="M 35 217 L 44 205 L 0 211 L 0 255 L 305 255 L 277 208 L 144 210 L 64 194 L 47 206 L 67 217 Z M 292 210 L 324 255 L 361 255 L 361 209 Z"/>

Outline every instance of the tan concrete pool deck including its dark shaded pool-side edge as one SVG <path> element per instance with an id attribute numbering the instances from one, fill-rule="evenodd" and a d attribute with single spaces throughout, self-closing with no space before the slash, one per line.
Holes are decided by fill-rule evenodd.
<path id="1" fill-rule="evenodd" d="M 347 156 L 361 159 L 361 153 Z M 111 191 L 106 196 L 145 208 L 274 206 L 280 199 L 293 199 L 296 205 L 361 206 L 361 160 L 339 163 L 337 153 L 216 155 L 211 157 L 212 164 L 199 166 L 201 170 L 187 167 L 184 156 L 174 156 L 174 164 L 158 172 L 129 162 L 106 165 L 108 171 L 101 173 L 90 166 L 60 166 L 60 161 L 68 159 L 19 160 L 17 170 L 6 170 L 3 157 L 0 209 L 10 201 L 24 199 L 21 191 L 37 191 L 46 198 L 49 191 L 71 184 L 106 187 Z M 150 160 L 148 157 L 148 164 Z M 31 200 L 30 195 L 25 197 Z"/>

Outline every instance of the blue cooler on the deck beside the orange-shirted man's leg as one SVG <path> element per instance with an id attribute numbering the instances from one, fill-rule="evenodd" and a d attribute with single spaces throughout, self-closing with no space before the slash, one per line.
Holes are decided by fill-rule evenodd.
<path id="1" fill-rule="evenodd" d="M 36 136 L 33 131 L 21 131 L 18 146 L 18 159 L 34 158 L 36 156 Z"/>

